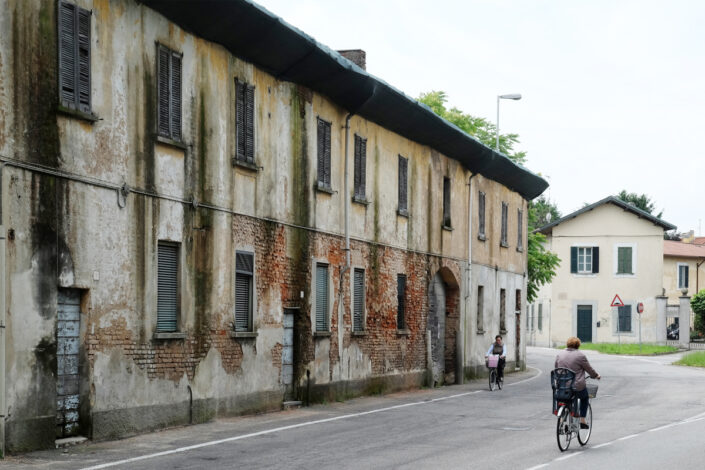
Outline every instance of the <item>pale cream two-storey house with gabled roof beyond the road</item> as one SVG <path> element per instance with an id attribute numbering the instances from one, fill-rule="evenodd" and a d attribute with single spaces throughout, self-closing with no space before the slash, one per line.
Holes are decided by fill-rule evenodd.
<path id="1" fill-rule="evenodd" d="M 663 232 L 674 228 L 612 196 L 540 228 L 562 261 L 529 307 L 528 344 L 655 341 Z"/>

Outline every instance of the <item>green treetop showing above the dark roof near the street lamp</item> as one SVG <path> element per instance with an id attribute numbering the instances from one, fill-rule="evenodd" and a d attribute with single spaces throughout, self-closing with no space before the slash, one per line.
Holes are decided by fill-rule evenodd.
<path id="1" fill-rule="evenodd" d="M 444 91 L 421 93 L 418 100 L 446 121 L 455 124 L 488 147 L 495 148 L 497 126 L 485 118 L 471 116 L 456 107 L 448 109 L 446 107 L 448 97 Z M 523 165 L 526 162 L 526 152 L 514 150 L 514 145 L 518 143 L 519 135 L 517 134 L 499 135 L 499 151 L 509 157 L 514 163 Z"/>

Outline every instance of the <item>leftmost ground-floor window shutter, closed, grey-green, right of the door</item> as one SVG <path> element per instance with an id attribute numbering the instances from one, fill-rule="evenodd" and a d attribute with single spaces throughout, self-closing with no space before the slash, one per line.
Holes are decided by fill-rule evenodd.
<path id="1" fill-rule="evenodd" d="M 157 247 L 157 331 L 176 331 L 179 247 Z"/>

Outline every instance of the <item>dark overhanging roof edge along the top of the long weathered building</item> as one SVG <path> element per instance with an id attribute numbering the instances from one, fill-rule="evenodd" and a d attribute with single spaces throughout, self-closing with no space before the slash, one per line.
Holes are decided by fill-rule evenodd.
<path id="1" fill-rule="evenodd" d="M 199 14 L 199 15 L 208 15 L 209 14 L 209 8 L 206 8 L 207 5 L 205 4 L 211 4 L 211 5 L 217 5 L 220 8 L 218 11 L 222 13 L 222 8 L 227 7 L 229 5 L 233 6 L 234 8 L 237 8 L 237 3 L 240 3 L 241 5 L 247 5 L 250 8 L 247 9 L 245 12 L 250 13 L 250 14 L 259 14 L 263 15 L 266 17 L 267 20 L 272 21 L 274 25 L 269 32 L 276 33 L 276 31 L 273 31 L 275 28 L 280 28 L 280 33 L 281 34 L 294 34 L 296 37 L 299 38 L 299 40 L 303 41 L 306 43 L 305 45 L 302 46 L 308 46 L 311 48 L 311 51 L 313 50 L 318 50 L 319 52 L 323 53 L 325 56 L 328 57 L 330 61 L 333 61 L 335 65 L 341 67 L 345 73 L 351 73 L 354 75 L 358 75 L 361 78 L 366 78 L 371 80 L 372 87 L 374 92 L 366 96 L 364 98 L 364 101 L 361 101 L 358 103 L 357 108 L 359 109 L 362 106 L 365 106 L 365 112 L 360 113 L 360 116 L 369 119 L 373 122 L 376 122 L 377 124 L 382 125 L 383 127 L 389 128 L 387 125 L 378 122 L 378 120 L 375 120 L 371 117 L 367 117 L 365 114 L 368 116 L 373 114 L 374 111 L 378 111 L 381 113 L 382 111 L 379 109 L 375 109 L 374 107 L 374 101 L 376 98 L 376 95 L 378 95 L 378 90 L 379 89 L 386 89 L 388 92 L 392 95 L 390 98 L 396 98 L 395 100 L 401 99 L 402 102 L 407 102 L 407 104 L 416 106 L 421 112 L 422 112 L 422 120 L 426 121 L 428 120 L 429 122 L 438 122 L 442 124 L 442 128 L 439 129 L 441 132 L 445 130 L 448 132 L 448 135 L 440 135 L 437 136 L 436 140 L 437 142 L 441 142 L 441 145 L 432 145 L 429 142 L 422 142 L 419 140 L 417 137 L 418 134 L 414 132 L 407 132 L 406 135 L 403 130 L 393 130 L 394 132 L 399 133 L 403 137 L 406 137 L 410 140 L 419 142 L 424 145 L 428 145 L 431 148 L 434 148 L 441 153 L 447 155 L 448 157 L 459 161 L 463 166 L 465 166 L 468 170 L 474 172 L 474 173 L 479 173 L 482 174 L 492 180 L 497 181 L 498 183 L 501 183 L 505 185 L 507 188 L 516 191 L 517 193 L 521 194 L 524 198 L 531 200 L 539 196 L 541 193 L 543 193 L 546 188 L 548 187 L 548 182 L 543 179 L 541 176 L 531 172 L 527 168 L 523 167 L 522 165 L 519 165 L 515 162 L 513 162 L 509 157 L 506 155 L 495 151 L 491 147 L 488 147 L 487 145 L 483 144 L 479 140 L 477 140 L 475 137 L 467 134 L 464 132 L 462 129 L 458 128 L 454 124 L 446 121 L 442 117 L 438 116 L 436 113 L 434 113 L 428 106 L 424 105 L 423 103 L 418 102 L 417 100 L 407 96 L 405 93 L 402 91 L 396 89 L 395 87 L 391 86 L 384 80 L 381 80 L 374 75 L 370 74 L 369 72 L 363 70 L 359 66 L 357 66 L 355 63 L 352 61 L 346 59 L 343 57 L 341 54 L 339 54 L 337 51 L 332 50 L 328 46 L 325 46 L 324 44 L 319 43 L 314 39 L 312 36 L 309 36 L 308 34 L 304 33 L 300 29 L 296 28 L 295 26 L 290 25 L 286 21 L 284 21 L 281 17 L 271 13 L 269 10 L 264 8 L 263 6 L 251 1 L 251 0 L 215 0 L 215 1 L 196 1 L 196 0 L 184 0 L 184 1 L 179 1 L 179 2 L 171 2 L 171 1 L 166 1 L 166 0 L 142 0 L 142 3 L 147 5 L 148 7 L 154 9 L 155 11 L 163 14 L 167 18 L 169 18 L 171 21 L 174 23 L 178 24 L 182 28 L 184 28 L 187 31 L 192 31 L 194 34 L 204 37 L 206 39 L 209 39 L 211 41 L 214 41 L 218 44 L 223 45 L 226 49 L 230 50 L 231 53 L 233 53 L 236 56 L 242 56 L 241 54 L 237 54 L 237 51 L 231 50 L 228 45 L 233 44 L 233 37 L 235 35 L 230 34 L 230 36 L 222 36 L 219 37 L 220 31 L 215 30 L 215 28 L 211 29 L 210 31 L 199 31 L 198 28 L 195 26 L 197 21 L 189 20 L 189 16 L 193 18 L 194 14 Z M 229 4 L 229 5 L 228 5 Z M 195 10 L 190 10 L 189 7 L 193 8 L 196 7 Z M 181 11 L 179 11 L 181 10 Z M 184 14 L 183 12 L 189 10 L 189 14 Z M 243 12 L 240 11 L 242 14 Z M 212 14 L 212 13 L 211 13 Z M 216 15 L 217 16 L 217 15 Z M 218 20 L 222 20 L 221 17 L 217 18 Z M 252 18 L 253 20 L 255 18 Z M 265 19 L 265 18 L 259 18 Z M 238 18 L 228 18 L 228 21 L 230 23 L 237 22 L 237 21 L 246 21 L 246 18 L 243 18 L 241 15 Z M 223 33 L 224 34 L 224 33 Z M 288 38 L 290 39 L 290 38 Z M 308 48 L 307 47 L 307 48 Z M 270 54 L 276 54 L 278 51 L 268 51 Z M 283 54 L 284 52 L 282 52 Z M 263 57 L 262 57 L 263 58 Z M 271 58 L 271 57 L 270 57 Z M 283 58 L 283 56 L 282 56 Z M 290 58 L 290 57 L 289 57 Z M 245 60 L 252 62 L 253 64 L 262 67 L 265 70 L 268 70 L 270 72 L 273 72 L 275 76 L 281 76 L 286 73 L 286 70 L 272 70 L 271 67 L 268 67 L 266 65 L 263 65 L 263 63 L 258 63 L 257 58 L 253 55 L 250 54 L 249 57 L 244 57 Z M 303 60 L 303 58 L 301 58 Z M 294 62 L 293 64 L 296 65 L 298 62 Z M 289 64 L 290 66 L 291 63 Z M 332 64 L 331 64 L 332 65 Z M 292 80 L 294 81 L 294 80 Z M 296 81 L 294 81 L 296 83 Z M 303 84 L 303 83 L 302 83 Z M 326 94 L 323 90 L 321 89 L 316 89 L 313 88 L 316 91 L 319 91 L 321 93 Z M 327 94 L 329 97 L 330 95 Z M 331 98 L 333 99 L 333 98 Z M 362 99 L 362 98 L 361 98 Z M 335 99 L 333 99 L 334 102 L 338 102 Z M 338 102 L 340 104 L 340 102 Z M 350 106 L 343 106 L 346 109 L 350 108 Z M 349 109 L 349 111 L 356 111 L 356 109 Z M 388 111 L 388 110 L 386 110 Z M 396 109 L 392 111 L 397 111 Z M 408 115 L 403 112 L 402 109 L 398 110 L 399 112 L 399 120 L 403 120 L 405 118 L 408 118 Z M 419 123 L 421 125 L 423 123 Z M 392 130 L 392 129 L 390 129 Z M 441 148 L 445 147 L 445 148 Z M 478 161 L 479 160 L 479 161 Z M 509 171 L 509 173 L 508 173 Z M 511 174 L 514 173 L 514 174 Z"/>

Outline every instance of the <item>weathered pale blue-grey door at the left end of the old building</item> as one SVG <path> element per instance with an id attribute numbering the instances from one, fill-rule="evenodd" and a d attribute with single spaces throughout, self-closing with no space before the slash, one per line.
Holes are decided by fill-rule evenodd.
<path id="1" fill-rule="evenodd" d="M 79 431 L 78 352 L 81 331 L 81 293 L 59 289 L 56 325 L 56 437 Z"/>

